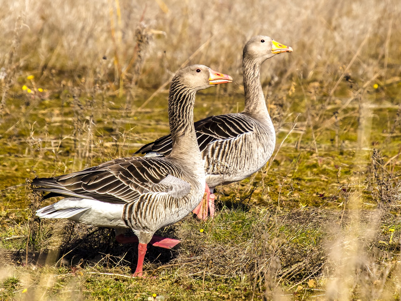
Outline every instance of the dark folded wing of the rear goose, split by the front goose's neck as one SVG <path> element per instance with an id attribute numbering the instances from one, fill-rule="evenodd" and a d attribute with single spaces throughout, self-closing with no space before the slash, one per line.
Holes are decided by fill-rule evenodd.
<path id="1" fill-rule="evenodd" d="M 203 153 L 209 144 L 223 142 L 227 139 L 239 138 L 243 134 L 253 132 L 250 118 L 241 113 L 210 116 L 194 123 L 199 149 Z M 158 138 L 142 146 L 135 154 L 154 154 L 168 156 L 171 153 L 171 134 Z"/>

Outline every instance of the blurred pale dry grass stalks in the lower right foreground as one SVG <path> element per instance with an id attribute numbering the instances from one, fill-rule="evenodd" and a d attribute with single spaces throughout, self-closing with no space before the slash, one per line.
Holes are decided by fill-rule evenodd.
<path id="1" fill-rule="evenodd" d="M 368 178 L 371 173 L 366 171 L 367 157 L 371 153 L 372 113 L 365 95 L 360 94 L 358 98 L 358 143 L 353 175 L 349 179 L 353 187 L 348 202 L 344 204 L 344 214 L 339 220 L 333 220 L 327 229 L 330 237 L 326 241 L 327 300 L 389 300 L 397 292 L 397 287 L 399 290 L 399 254 L 393 258 L 394 255 L 379 251 L 377 241 L 385 215 L 389 213 L 390 206 L 400 200 L 401 195 L 383 165 L 377 166 L 381 157 L 374 150 L 373 181 L 377 183 L 373 185 L 377 185 L 379 190 L 376 194 L 378 203 L 373 210 L 367 209 L 363 203 L 363 191 L 367 185 L 372 185 Z M 383 197 L 382 190 L 386 189 L 388 193 Z"/>

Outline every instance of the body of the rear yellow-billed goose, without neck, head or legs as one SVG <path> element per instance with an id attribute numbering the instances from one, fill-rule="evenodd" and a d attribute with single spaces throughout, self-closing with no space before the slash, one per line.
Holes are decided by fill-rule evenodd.
<path id="1" fill-rule="evenodd" d="M 275 146 L 272 124 L 246 113 L 210 116 L 195 122 L 209 187 L 240 181 L 263 167 Z M 171 136 L 146 144 L 137 153 L 168 156 Z"/>

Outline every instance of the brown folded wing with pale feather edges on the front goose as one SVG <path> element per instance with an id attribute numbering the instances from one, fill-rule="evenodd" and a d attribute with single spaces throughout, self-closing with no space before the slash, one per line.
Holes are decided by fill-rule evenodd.
<path id="1" fill-rule="evenodd" d="M 182 171 L 164 158 L 128 157 L 102 163 L 69 175 L 36 178 L 37 190 L 46 196 L 68 195 L 107 203 L 130 203 L 146 193 L 166 193 L 184 197 L 191 185 Z"/>

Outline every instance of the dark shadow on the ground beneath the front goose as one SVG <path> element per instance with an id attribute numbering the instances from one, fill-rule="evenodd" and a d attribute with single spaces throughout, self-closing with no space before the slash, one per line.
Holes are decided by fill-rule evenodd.
<path id="1" fill-rule="evenodd" d="M 50 233 L 51 231 L 49 231 Z M 173 227 L 167 227 L 156 232 L 158 236 L 177 238 Z M 50 235 L 50 234 L 49 234 Z M 134 236 L 131 230 L 126 236 Z M 59 250 L 49 250 L 43 242 L 36 242 L 35 251 L 32 246 L 17 251 L 7 251 L 7 261 L 18 265 L 64 265 L 68 267 L 103 266 L 105 268 L 129 266 L 134 273 L 138 261 L 138 243 L 120 244 L 115 240 L 113 229 L 88 227 L 74 222 L 67 222 L 63 230 L 64 238 Z M 48 239 L 51 239 L 48 237 Z M 38 247 L 41 245 L 40 247 Z M 145 262 L 151 263 L 155 268 L 167 264 L 178 256 L 180 244 L 173 249 L 165 249 L 148 244 Z M 36 251 L 39 250 L 39 251 Z"/>

